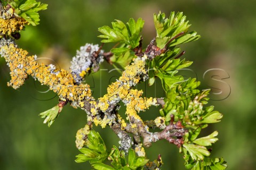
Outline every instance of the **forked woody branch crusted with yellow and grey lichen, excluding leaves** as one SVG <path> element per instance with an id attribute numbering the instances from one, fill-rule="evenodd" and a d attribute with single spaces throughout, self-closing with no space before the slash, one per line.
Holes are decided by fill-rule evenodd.
<path id="1" fill-rule="evenodd" d="M 106 125 L 109 125 L 111 129 L 118 135 L 121 139 L 121 148 L 124 150 L 129 149 L 132 140 L 128 133 L 133 134 L 134 143 L 137 145 L 140 143 L 140 136 L 143 138 L 143 144 L 146 147 L 151 146 L 151 142 L 156 142 L 157 140 L 166 139 L 169 142 L 174 143 L 175 145 L 179 145 L 181 141 L 177 141 L 180 139 L 174 139 L 173 137 L 180 138 L 182 137 L 183 129 L 178 126 L 178 122 L 173 124 L 170 123 L 169 126 L 166 127 L 162 132 L 150 133 L 143 125 L 141 118 L 137 115 L 137 112 L 144 111 L 150 105 L 158 105 L 161 104 L 164 106 L 164 100 L 162 98 L 153 99 L 153 98 L 141 98 L 142 92 L 139 90 L 133 90 L 132 87 L 136 86 L 141 81 L 146 81 L 148 79 L 148 75 L 145 68 L 145 62 L 147 58 L 152 60 L 157 55 L 165 53 L 167 50 L 167 45 L 171 43 L 172 40 L 177 38 L 179 35 L 173 37 L 169 42 L 167 42 L 166 46 L 163 49 L 159 49 L 155 44 L 156 39 L 151 40 L 150 44 L 147 46 L 146 51 L 142 52 L 142 38 L 140 39 L 140 44 L 135 52 L 138 58 L 135 58 L 134 63 L 130 64 L 126 67 L 125 71 L 116 82 L 112 83 L 108 87 L 108 94 L 103 97 L 95 100 L 91 96 L 90 87 L 87 84 L 76 84 L 74 81 L 73 75 L 65 70 L 56 71 L 51 69 L 50 66 L 39 64 L 35 61 L 34 56 L 27 56 L 28 53 L 26 50 L 22 50 L 18 48 L 17 45 L 14 44 L 13 40 L 5 39 L 1 40 L 1 49 L 3 50 L 2 56 L 5 57 L 7 63 L 12 63 L 10 69 L 11 71 L 17 74 L 18 79 L 14 79 L 12 77 L 11 86 L 13 88 L 19 88 L 23 81 L 27 78 L 27 75 L 32 75 L 41 83 L 47 85 L 53 91 L 58 93 L 61 98 L 59 107 L 62 108 L 64 105 L 68 103 L 68 101 L 74 107 L 81 107 L 87 113 L 88 120 L 90 122 L 90 127 L 92 122 L 96 125 L 101 125 L 102 128 L 105 128 Z M 92 52 L 91 54 L 91 62 L 94 65 L 97 65 L 97 58 L 101 52 L 103 44 L 100 48 Z M 7 49 L 7 50 L 6 50 Z M 91 47 L 87 47 L 86 52 L 91 52 Z M 10 60 L 13 52 L 19 51 L 18 58 L 16 60 Z M 111 52 L 103 53 L 103 57 L 111 63 L 110 57 L 113 55 Z M 143 57 L 146 55 L 147 57 Z M 17 66 L 20 64 L 20 59 L 22 58 L 22 64 L 26 66 L 22 66 L 20 72 L 17 72 Z M 90 57 L 89 57 L 90 58 Z M 19 63 L 15 63 L 18 62 Z M 10 64 L 9 64 L 10 65 Z M 35 67 L 35 68 L 34 68 Z M 34 68 L 34 69 L 33 69 Z M 98 70 L 98 67 L 94 68 L 95 71 Z M 15 75 L 14 74 L 14 75 Z M 23 77 L 19 78 L 19 75 L 23 75 Z M 42 77 L 43 75 L 43 77 Z M 59 76 L 59 77 L 58 77 Z M 56 80 L 55 82 L 51 82 L 47 80 L 47 78 Z M 19 79 L 22 81 L 20 82 Z M 63 79 L 63 80 L 62 80 Z M 18 83 L 16 83 L 18 82 Z M 116 122 L 116 109 L 119 106 L 119 101 L 123 101 L 127 106 L 126 114 L 130 117 L 130 122 L 135 123 L 137 128 L 134 128 L 131 124 L 127 124 L 125 130 L 122 130 L 122 126 L 120 123 Z M 123 143 L 123 144 L 122 144 Z M 136 144 L 137 143 L 137 144 Z M 129 147 L 128 147 L 129 146 Z"/>

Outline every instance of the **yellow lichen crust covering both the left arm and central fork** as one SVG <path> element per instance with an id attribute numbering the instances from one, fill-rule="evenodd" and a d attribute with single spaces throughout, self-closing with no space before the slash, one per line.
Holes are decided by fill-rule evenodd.
<path id="1" fill-rule="evenodd" d="M 156 99 L 142 98 L 143 91 L 137 89 L 131 89 L 139 81 L 145 81 L 147 78 L 147 72 L 145 68 L 145 58 L 138 57 L 134 59 L 134 62 L 125 67 L 125 71 L 118 81 L 111 83 L 107 88 L 107 94 L 98 99 L 98 102 L 94 101 L 91 97 L 91 89 L 88 84 L 77 85 L 74 81 L 73 75 L 63 69 L 52 69 L 52 66 L 47 66 L 35 61 L 35 56 L 28 56 L 28 52 L 21 48 L 18 48 L 14 43 L 6 43 L 1 47 L 0 53 L 5 57 L 11 70 L 11 81 L 8 83 L 14 89 L 19 88 L 28 75 L 31 75 L 42 84 L 49 86 L 51 90 L 56 92 L 59 98 L 63 101 L 71 101 L 73 107 L 84 107 L 84 100 L 90 101 L 91 114 L 95 117 L 89 116 L 95 123 L 95 125 L 101 125 L 105 128 L 107 124 L 113 122 L 113 118 L 108 117 L 108 109 L 111 105 L 116 105 L 120 100 L 124 101 L 126 105 L 127 117 L 134 117 L 140 121 L 141 118 L 137 112 L 145 111 L 151 105 L 157 105 Z M 89 72 L 90 68 L 81 73 L 81 77 L 84 77 L 86 72 Z M 100 118 L 98 111 L 107 113 L 103 118 Z M 124 120 L 121 120 L 122 129 L 126 127 Z"/>

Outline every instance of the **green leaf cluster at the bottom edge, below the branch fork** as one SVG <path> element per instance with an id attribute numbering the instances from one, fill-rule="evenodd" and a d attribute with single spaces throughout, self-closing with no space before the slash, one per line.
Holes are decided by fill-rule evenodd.
<path id="1" fill-rule="evenodd" d="M 95 131 L 90 131 L 85 146 L 87 148 L 79 149 L 83 154 L 77 155 L 75 161 L 77 163 L 89 161 L 94 169 L 140 170 L 148 162 L 145 157 L 137 156 L 133 149 L 129 150 L 128 161 L 126 161 L 125 152 L 119 151 L 116 146 L 113 146 L 111 152 L 108 153 L 100 134 Z M 105 160 L 109 160 L 112 166 L 103 163 Z"/>

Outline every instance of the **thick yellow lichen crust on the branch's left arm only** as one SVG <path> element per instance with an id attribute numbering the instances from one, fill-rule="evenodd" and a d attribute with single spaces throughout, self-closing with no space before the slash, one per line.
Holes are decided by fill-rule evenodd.
<path id="1" fill-rule="evenodd" d="M 18 48 L 14 43 L 9 42 L 3 45 L 0 53 L 11 70 L 11 80 L 7 85 L 14 89 L 22 86 L 28 75 L 31 75 L 57 92 L 62 100 L 74 101 L 74 107 L 83 107 L 82 100 L 91 98 L 91 89 L 88 84 L 75 84 L 72 74 L 63 69 L 51 72 L 50 66 L 36 62 L 35 56 L 28 56 L 26 50 Z"/>

